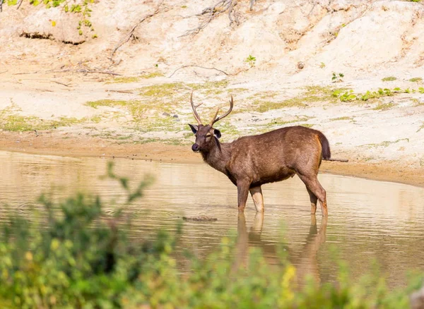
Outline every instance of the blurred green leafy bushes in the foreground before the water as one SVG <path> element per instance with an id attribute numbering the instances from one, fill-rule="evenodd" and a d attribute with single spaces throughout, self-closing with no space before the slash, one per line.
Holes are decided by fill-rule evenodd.
<path id="1" fill-rule="evenodd" d="M 108 176 L 126 188 L 129 202 L 151 181 L 131 191 L 112 165 Z M 283 246 L 280 265 L 269 265 L 257 248 L 237 264 L 235 236 L 204 260 L 187 254 L 192 271 L 181 274 L 178 236 L 158 231 L 151 241 L 130 240 L 124 209 L 108 216 L 98 197 L 40 202 L 40 219 L 11 214 L 0 224 L 1 308 L 407 308 L 408 293 L 423 282 L 420 275 L 408 289 L 389 292 L 378 273 L 352 282 L 339 262 L 335 282 L 299 286 Z"/>

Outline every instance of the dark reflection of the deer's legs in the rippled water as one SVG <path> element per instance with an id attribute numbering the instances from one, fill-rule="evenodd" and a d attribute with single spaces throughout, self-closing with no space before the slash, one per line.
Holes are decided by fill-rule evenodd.
<path id="1" fill-rule="evenodd" d="M 261 239 L 262 228 L 264 226 L 264 213 L 257 212 L 250 231 L 247 232 L 246 218 L 244 213 L 239 213 L 237 220 L 237 243 L 235 264 L 233 269 L 247 265 L 249 258 L 249 247 L 260 247 L 267 262 L 273 265 L 278 264 L 278 254 L 276 253 L 276 243 Z M 319 230 L 317 229 L 317 219 L 311 215 L 310 230 L 300 254 L 295 257 L 289 255 L 290 262 L 297 268 L 297 280 L 299 284 L 305 280 L 306 276 L 312 276 L 317 282 L 321 281 L 321 274 L 317 260 L 319 248 L 326 241 L 327 218 L 323 217 Z"/>

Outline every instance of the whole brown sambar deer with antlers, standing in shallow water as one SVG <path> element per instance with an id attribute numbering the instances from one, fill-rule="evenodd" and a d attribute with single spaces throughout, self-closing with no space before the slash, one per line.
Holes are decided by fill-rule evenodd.
<path id="1" fill-rule="evenodd" d="M 310 195 L 311 213 L 317 211 L 317 200 L 321 204 L 322 216 L 327 217 L 326 192 L 318 181 L 317 174 L 322 159 L 330 159 L 329 141 L 323 133 L 303 126 L 279 128 L 260 135 L 243 136 L 231 143 L 220 143 L 221 133 L 213 125 L 228 116 L 230 109 L 218 116 L 219 108 L 211 122 L 204 125 L 190 97 L 194 118 L 198 125 L 189 124 L 196 135 L 192 145 L 200 152 L 204 161 L 222 172 L 237 186 L 238 210 L 244 212 L 247 195 L 252 195 L 257 212 L 264 211 L 261 186 L 264 183 L 283 181 L 297 174 L 305 183 Z"/>

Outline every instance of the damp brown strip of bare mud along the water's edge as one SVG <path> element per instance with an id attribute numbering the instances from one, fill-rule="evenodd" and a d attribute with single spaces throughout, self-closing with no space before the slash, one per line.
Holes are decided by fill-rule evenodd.
<path id="1" fill-rule="evenodd" d="M 31 154 L 54 154 L 66 157 L 105 157 L 152 160 L 158 162 L 199 163 L 199 154 L 189 145 L 163 143 L 117 143 L 116 140 L 66 133 L 0 133 L 0 150 Z M 424 187 L 424 169 L 411 168 L 404 162 L 358 162 L 354 154 L 344 154 L 348 163 L 323 162 L 320 171 L 326 174 L 355 176 L 379 181 L 393 181 Z"/>

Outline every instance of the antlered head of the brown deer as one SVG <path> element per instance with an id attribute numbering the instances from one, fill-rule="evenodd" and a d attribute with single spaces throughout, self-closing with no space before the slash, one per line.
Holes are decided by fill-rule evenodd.
<path id="1" fill-rule="evenodd" d="M 216 128 L 213 128 L 213 124 L 220 121 L 221 119 L 223 119 L 224 117 L 226 117 L 230 114 L 230 112 L 232 111 L 232 107 L 234 105 L 234 101 L 233 101 L 232 96 L 231 96 L 230 109 L 228 109 L 228 111 L 225 114 L 223 114 L 223 116 L 217 117 L 218 112 L 219 112 L 219 107 L 218 107 L 218 109 L 216 109 L 215 115 L 211 119 L 211 122 L 206 124 L 206 125 L 201 123 L 200 116 L 196 111 L 197 107 L 201 106 L 201 104 L 194 105 L 194 103 L 193 103 L 193 92 L 192 92 L 192 95 L 190 97 L 190 103 L 192 104 L 194 119 L 196 119 L 196 121 L 197 121 L 197 126 L 189 124 L 194 135 L 196 135 L 196 143 L 194 143 L 192 145 L 192 150 L 194 152 L 199 152 L 201 150 L 208 151 L 214 145 L 214 143 L 213 143 L 215 141 L 214 139 L 215 138 L 218 139 L 221 136 L 220 131 Z"/>

